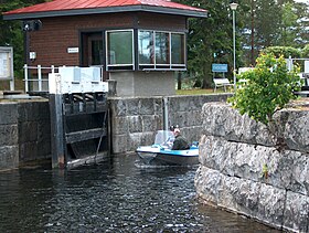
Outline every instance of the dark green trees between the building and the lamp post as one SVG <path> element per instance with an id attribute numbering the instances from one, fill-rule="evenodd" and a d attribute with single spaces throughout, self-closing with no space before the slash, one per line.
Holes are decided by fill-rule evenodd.
<path id="1" fill-rule="evenodd" d="M 192 3 L 182 0 L 181 3 L 209 11 L 207 19 L 189 21 L 188 66 L 203 88 L 211 87 L 212 63 L 232 64 L 232 18 L 228 2 L 199 0 Z"/>

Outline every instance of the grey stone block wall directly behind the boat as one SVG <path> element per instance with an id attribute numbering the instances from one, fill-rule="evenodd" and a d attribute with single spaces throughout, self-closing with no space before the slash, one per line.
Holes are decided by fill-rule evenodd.
<path id="1" fill-rule="evenodd" d="M 206 102 L 225 102 L 230 94 L 170 96 L 169 125 L 179 125 L 190 140 L 201 137 L 201 109 Z M 135 151 L 153 144 L 157 130 L 163 129 L 163 97 L 110 97 L 111 152 Z"/>

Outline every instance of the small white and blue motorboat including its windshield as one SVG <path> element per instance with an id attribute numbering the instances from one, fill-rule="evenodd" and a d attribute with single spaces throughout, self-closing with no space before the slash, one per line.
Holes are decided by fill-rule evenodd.
<path id="1" fill-rule="evenodd" d="M 187 150 L 171 150 L 169 144 L 172 144 L 172 131 L 159 130 L 153 145 L 140 146 L 136 152 L 145 165 L 192 166 L 199 163 L 199 145 L 196 142 Z"/>

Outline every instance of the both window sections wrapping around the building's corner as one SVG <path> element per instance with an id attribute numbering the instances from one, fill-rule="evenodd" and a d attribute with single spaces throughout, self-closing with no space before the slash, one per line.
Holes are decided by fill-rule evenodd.
<path id="1" fill-rule="evenodd" d="M 185 70 L 184 33 L 139 30 L 134 38 L 134 30 L 106 31 L 107 71 Z"/>

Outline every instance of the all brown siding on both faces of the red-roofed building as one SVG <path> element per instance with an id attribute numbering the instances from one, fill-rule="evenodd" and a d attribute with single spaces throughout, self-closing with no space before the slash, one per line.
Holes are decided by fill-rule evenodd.
<path id="1" fill-rule="evenodd" d="M 135 21 L 136 20 L 136 21 Z M 79 65 L 79 32 L 104 29 L 153 29 L 185 31 L 187 18 L 159 13 L 126 12 L 58 17 L 41 19 L 42 29 L 30 32 L 30 52 L 36 53 L 30 65 Z M 67 53 L 68 47 L 79 47 L 79 53 Z"/>

